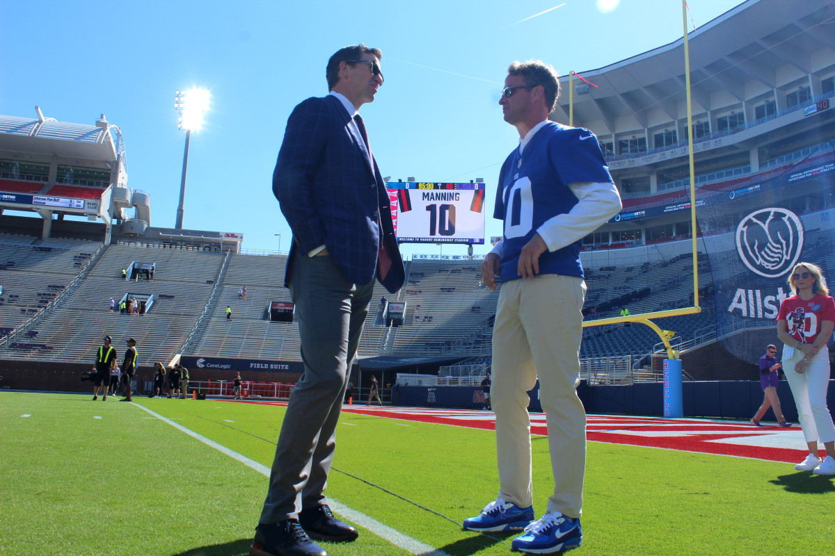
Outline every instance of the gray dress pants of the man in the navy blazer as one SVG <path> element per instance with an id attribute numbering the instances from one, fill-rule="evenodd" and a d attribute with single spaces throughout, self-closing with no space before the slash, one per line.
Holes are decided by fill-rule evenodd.
<path id="1" fill-rule="evenodd" d="M 298 518 L 325 499 L 342 398 L 374 290 L 373 281 L 347 282 L 330 256 L 294 257 L 289 283 L 305 371 L 281 424 L 260 523 Z"/>

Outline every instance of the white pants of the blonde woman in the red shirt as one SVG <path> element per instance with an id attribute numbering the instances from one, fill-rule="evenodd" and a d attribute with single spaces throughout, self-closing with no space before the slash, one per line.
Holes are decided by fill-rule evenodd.
<path id="1" fill-rule="evenodd" d="M 829 351 L 824 345 L 807 364 L 806 372 L 795 373 L 795 362 L 783 363 L 788 385 L 792 388 L 797 416 L 807 442 L 832 442 L 835 425 L 827 409 L 829 387 Z"/>

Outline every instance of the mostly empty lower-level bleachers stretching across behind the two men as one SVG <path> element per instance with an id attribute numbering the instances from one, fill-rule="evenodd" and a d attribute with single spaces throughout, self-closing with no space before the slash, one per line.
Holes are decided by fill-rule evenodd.
<path id="1" fill-rule="evenodd" d="M 814 234 L 809 238 L 831 239 Z M 4 327 L 25 322 L 54 298 L 76 278 L 79 267 L 100 245 L 68 239 L 41 242 L 10 234 L 0 234 L 0 243 L 0 268 L 5 259 L 13 263 L 0 270 L 0 283 L 8 284 L 0 296 L 0 316 L 9 316 L 3 320 Z M 299 360 L 298 327 L 267 319 L 269 303 L 291 301 L 289 290 L 283 286 L 286 254 L 230 253 L 221 273 L 224 258 L 225 253 L 163 248 L 154 243 L 110 245 L 89 273 L 68 291 L 58 308 L 36 327 L 18 334 L 13 342 L 0 345 L 0 355 L 86 361 L 93 358 L 101 337 L 110 334 L 117 340 L 117 348 L 123 348 L 120 342 L 124 338 L 137 338 L 140 363 L 144 364 L 158 360 L 167 363 L 177 353 Z M 156 263 L 154 280 L 124 281 L 121 269 L 132 262 Z M 700 258 L 699 266 L 701 285 L 712 286 L 704 258 Z M 587 319 L 615 316 L 622 307 L 636 314 L 690 306 L 691 273 L 689 255 L 634 266 L 588 268 L 590 289 L 586 307 L 605 307 L 607 303 L 610 307 L 590 313 Z M 218 278 L 221 282 L 215 284 Z M 246 299 L 238 296 L 243 286 L 247 288 Z M 18 289 L 24 291 L 18 293 Z M 634 295 L 642 289 L 648 289 L 650 294 Z M 137 317 L 109 313 L 109 298 L 118 303 L 126 293 L 154 294 L 153 308 Z M 10 298 L 9 294 L 19 297 Z M 384 295 L 390 303 L 407 303 L 401 327 L 384 326 L 380 304 Z M 620 299 L 626 299 L 625 303 L 612 305 Z M 415 257 L 407 261 L 407 283 L 397 295 L 388 294 L 379 286 L 375 288 L 358 356 L 443 355 L 488 361 L 497 303 L 498 291 L 484 288 L 481 283 L 480 259 Z M 227 306 L 232 309 L 231 320 L 226 318 Z M 84 325 L 74 327 L 68 323 Z M 696 317 L 660 319 L 657 323 L 687 338 L 701 328 L 715 328 L 715 315 L 705 311 Z M 650 328 L 640 324 L 587 327 L 581 357 L 629 354 L 638 360 L 645 358 L 659 341 Z M 480 376 L 488 363 L 479 359 L 476 364 L 478 369 L 468 372 Z"/>

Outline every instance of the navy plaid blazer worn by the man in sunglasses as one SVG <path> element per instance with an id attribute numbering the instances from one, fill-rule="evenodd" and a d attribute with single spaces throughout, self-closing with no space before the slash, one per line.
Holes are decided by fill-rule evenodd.
<path id="1" fill-rule="evenodd" d="M 272 191 L 293 232 L 285 285 L 294 252 L 306 257 L 322 244 L 347 281 L 369 283 L 379 278 L 377 253 L 383 243 L 392 267 L 380 283 L 396 293 L 406 273 L 386 185 L 377 162 L 369 161 L 361 146 L 362 137 L 348 126 L 351 121 L 333 95 L 306 99 L 287 120 L 272 174 Z"/>

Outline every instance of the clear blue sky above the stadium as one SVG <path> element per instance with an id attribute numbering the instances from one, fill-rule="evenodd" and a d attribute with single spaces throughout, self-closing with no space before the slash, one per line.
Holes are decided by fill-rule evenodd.
<path id="1" fill-rule="evenodd" d="M 737 3 L 688 2 L 697 27 Z M 244 233 L 244 248 L 282 251 L 291 232 L 271 192 L 276 155 L 293 107 L 327 93 L 338 48 L 382 50 L 385 85 L 361 110 L 382 174 L 484 178 L 489 238 L 501 233 L 491 218 L 498 169 L 519 138 L 498 107 L 509 63 L 539 58 L 582 73 L 682 33 L 678 0 L 0 0 L 0 13 L 0 113 L 35 118 L 38 105 L 89 124 L 106 114 L 124 135 L 129 186 L 151 195 L 154 226 L 174 226 L 180 194 L 175 90 L 210 89 L 205 126 L 191 136 L 184 228 Z"/>

